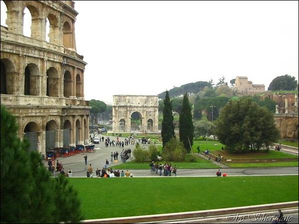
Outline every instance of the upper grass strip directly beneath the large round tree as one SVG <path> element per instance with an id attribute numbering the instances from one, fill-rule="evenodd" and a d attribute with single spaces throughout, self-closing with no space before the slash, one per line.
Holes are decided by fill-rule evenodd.
<path id="1" fill-rule="evenodd" d="M 284 152 L 279 152 L 275 150 L 270 150 L 268 153 L 265 151 L 255 151 L 255 152 L 248 152 L 248 153 L 239 153 L 239 154 L 230 154 L 228 151 L 220 150 L 220 151 L 212 151 L 212 154 L 218 156 L 220 154 L 224 157 L 224 159 L 231 159 L 231 158 L 298 158 L 297 155 L 288 154 Z"/>

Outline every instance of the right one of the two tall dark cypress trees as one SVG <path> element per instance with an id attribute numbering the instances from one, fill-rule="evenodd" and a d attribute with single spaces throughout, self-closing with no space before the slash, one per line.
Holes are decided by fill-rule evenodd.
<path id="1" fill-rule="evenodd" d="M 183 142 L 187 152 L 190 152 L 190 145 L 193 145 L 194 126 L 192 122 L 191 105 L 187 93 L 184 94 L 182 111 L 179 119 L 180 141 Z"/>

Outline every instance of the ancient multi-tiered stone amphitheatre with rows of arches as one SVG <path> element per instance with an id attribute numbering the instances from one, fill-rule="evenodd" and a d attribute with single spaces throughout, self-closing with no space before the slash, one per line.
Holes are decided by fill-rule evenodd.
<path id="1" fill-rule="evenodd" d="M 86 62 L 76 52 L 74 2 L 4 3 L 7 26 L 1 25 L 0 97 L 16 116 L 19 136 L 42 156 L 55 147 L 86 144 L 90 107 L 84 100 Z M 23 34 L 25 8 L 31 14 L 30 37 Z"/>

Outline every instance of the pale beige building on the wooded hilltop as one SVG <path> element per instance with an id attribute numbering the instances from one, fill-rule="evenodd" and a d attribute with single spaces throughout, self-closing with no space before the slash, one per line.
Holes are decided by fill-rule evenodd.
<path id="1" fill-rule="evenodd" d="M 254 95 L 265 92 L 264 84 L 252 84 L 252 81 L 248 81 L 247 76 L 237 76 L 235 85 L 237 91 L 242 94 Z"/>

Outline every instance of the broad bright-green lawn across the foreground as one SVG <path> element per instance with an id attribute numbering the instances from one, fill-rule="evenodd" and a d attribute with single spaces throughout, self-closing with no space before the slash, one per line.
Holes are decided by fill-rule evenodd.
<path id="1" fill-rule="evenodd" d="M 84 219 L 298 201 L 298 176 L 70 178 Z"/>

